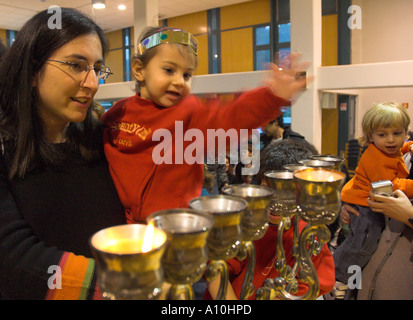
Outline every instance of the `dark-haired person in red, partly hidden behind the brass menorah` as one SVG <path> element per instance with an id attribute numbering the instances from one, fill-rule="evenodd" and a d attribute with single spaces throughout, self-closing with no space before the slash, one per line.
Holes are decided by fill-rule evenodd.
<path id="1" fill-rule="evenodd" d="M 262 185 L 268 185 L 264 173 L 271 170 L 283 170 L 283 166 L 291 163 L 298 163 L 299 160 L 311 158 L 314 155 L 312 148 L 307 144 L 296 140 L 276 140 L 272 141 L 266 148 L 261 151 L 259 181 Z M 269 227 L 264 237 L 254 241 L 256 251 L 256 264 L 253 284 L 255 289 L 261 288 L 266 279 L 274 279 L 278 276 L 275 269 L 277 254 L 277 232 L 280 217 L 274 214 L 269 208 Z M 299 229 L 306 226 L 306 223 L 300 221 Z M 283 245 L 286 253 L 286 260 L 289 266 L 294 265 L 295 258 L 292 256 L 293 247 L 293 228 L 284 231 Z M 314 267 L 317 270 L 318 280 L 320 283 L 319 295 L 331 291 L 334 286 L 334 262 L 328 246 L 324 244 L 320 253 L 312 258 Z M 229 270 L 230 283 L 228 284 L 227 299 L 237 300 L 241 294 L 241 287 L 247 272 L 247 259 L 242 261 L 234 258 L 227 261 Z M 215 298 L 218 294 L 220 278 L 207 284 L 208 290 L 204 294 L 204 299 Z M 296 295 L 301 296 L 308 290 L 308 285 L 299 283 Z M 250 297 L 255 299 L 255 294 Z"/>

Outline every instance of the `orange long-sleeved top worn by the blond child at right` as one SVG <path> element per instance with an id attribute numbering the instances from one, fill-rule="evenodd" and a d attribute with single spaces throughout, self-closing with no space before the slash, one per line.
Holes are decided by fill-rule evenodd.
<path id="1" fill-rule="evenodd" d="M 413 197 L 413 180 L 404 164 L 403 154 L 409 152 L 412 141 L 406 142 L 394 157 L 389 157 L 374 144 L 370 144 L 360 158 L 354 177 L 341 190 L 341 200 L 347 203 L 367 207 L 367 198 L 371 183 L 379 180 L 390 180 L 393 191 L 400 189 L 409 198 Z"/>

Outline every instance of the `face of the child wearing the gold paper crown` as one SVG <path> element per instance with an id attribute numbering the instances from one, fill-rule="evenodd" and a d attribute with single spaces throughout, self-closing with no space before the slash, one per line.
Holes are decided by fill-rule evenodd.
<path id="1" fill-rule="evenodd" d="M 162 44 L 149 63 L 135 73 L 141 83 L 141 98 L 172 107 L 189 95 L 194 59 L 188 59 L 170 44 Z"/>

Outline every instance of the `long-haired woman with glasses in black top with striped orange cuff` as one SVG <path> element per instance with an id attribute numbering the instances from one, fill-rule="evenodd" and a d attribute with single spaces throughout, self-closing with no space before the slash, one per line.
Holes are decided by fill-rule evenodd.
<path id="1" fill-rule="evenodd" d="M 90 108 L 107 40 L 56 10 L 30 19 L 0 65 L 2 299 L 99 298 L 89 238 L 126 222 Z"/>

